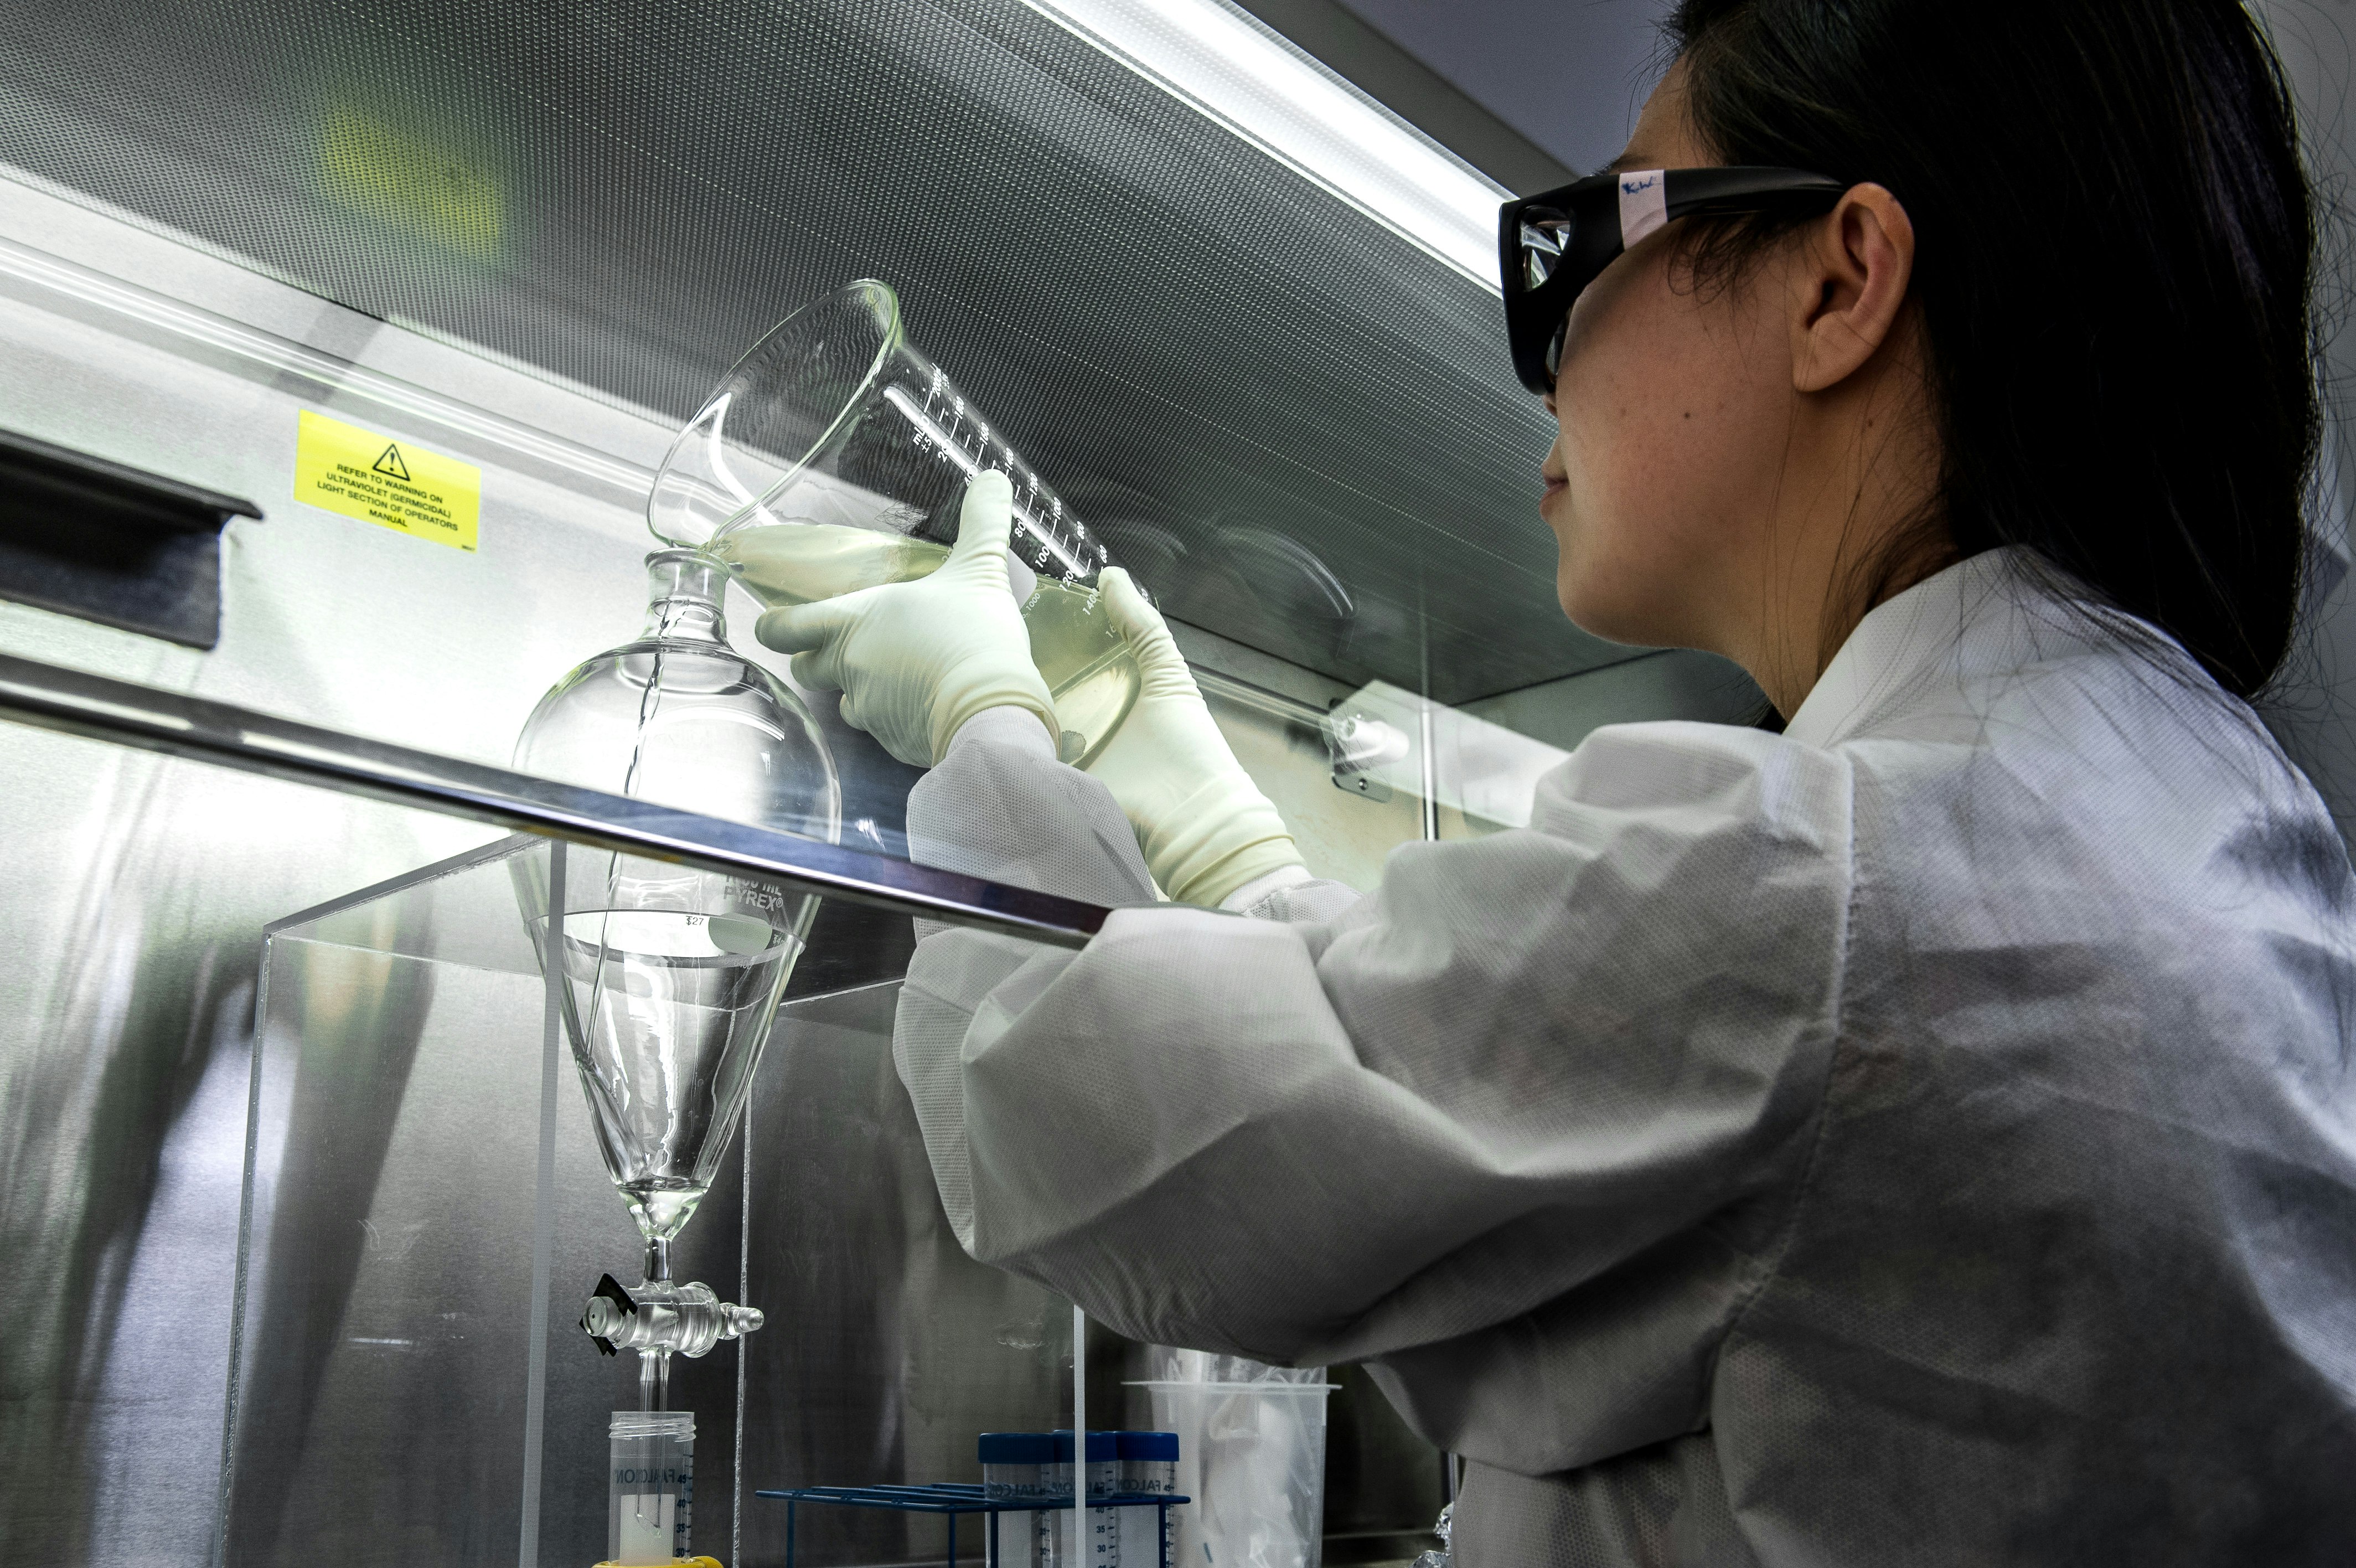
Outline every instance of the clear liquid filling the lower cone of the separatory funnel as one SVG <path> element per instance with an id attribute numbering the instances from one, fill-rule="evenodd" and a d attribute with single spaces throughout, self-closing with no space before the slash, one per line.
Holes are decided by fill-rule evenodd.
<path id="1" fill-rule="evenodd" d="M 575 910 L 565 1023 L 605 1170 L 646 1236 L 712 1188 L 801 941 L 747 915 Z"/>

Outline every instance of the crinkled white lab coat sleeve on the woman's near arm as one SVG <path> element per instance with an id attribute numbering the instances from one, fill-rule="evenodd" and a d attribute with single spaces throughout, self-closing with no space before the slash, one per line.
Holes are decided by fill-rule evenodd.
<path id="1" fill-rule="evenodd" d="M 912 842 L 1070 790 L 1048 769 L 952 755 Z M 1093 816 L 1065 828 L 1103 839 Z M 1126 1335 L 1411 1358 L 1699 1254 L 1668 1273 L 1713 1299 L 1661 1304 L 1694 1337 L 1805 1165 L 1847 908 L 1838 755 L 1616 726 L 1529 830 L 1402 846 L 1324 922 L 1121 908 L 1077 955 L 931 934 L 895 1054 L 964 1245 Z"/>

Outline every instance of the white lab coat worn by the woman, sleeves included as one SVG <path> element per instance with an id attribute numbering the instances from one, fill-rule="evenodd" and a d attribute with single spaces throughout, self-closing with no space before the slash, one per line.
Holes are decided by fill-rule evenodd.
<path id="1" fill-rule="evenodd" d="M 928 931 L 957 1236 L 1140 1339 L 1366 1361 L 1472 1462 L 1458 1568 L 2356 1559 L 2347 851 L 2019 566 L 1366 898 Z M 1034 733 L 961 736 L 912 844 L 1150 903 Z"/>

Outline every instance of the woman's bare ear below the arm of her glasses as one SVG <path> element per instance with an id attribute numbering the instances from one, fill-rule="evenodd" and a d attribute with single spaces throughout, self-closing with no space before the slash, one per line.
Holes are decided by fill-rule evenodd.
<path id="1" fill-rule="evenodd" d="M 1906 207 L 1878 184 L 1849 186 L 1793 257 L 1793 389 L 1828 391 L 1880 354 L 1911 278 Z"/>

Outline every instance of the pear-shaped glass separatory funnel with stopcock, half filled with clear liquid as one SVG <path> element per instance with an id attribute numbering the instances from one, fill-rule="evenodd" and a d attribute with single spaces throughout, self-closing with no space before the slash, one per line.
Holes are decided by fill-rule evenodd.
<path id="1" fill-rule="evenodd" d="M 556 681 L 516 766 L 832 844 L 834 757 L 801 698 L 728 646 L 726 585 L 712 556 L 648 556 L 646 630 Z M 818 898 L 580 846 L 514 865 L 542 962 L 558 922 L 565 1037 L 605 1172 L 646 1238 L 643 1278 L 601 1280 L 582 1327 L 608 1356 L 638 1351 L 641 1408 L 660 1410 L 671 1351 L 761 1327 L 759 1311 L 674 1283 L 669 1243 L 744 1115 Z"/>

